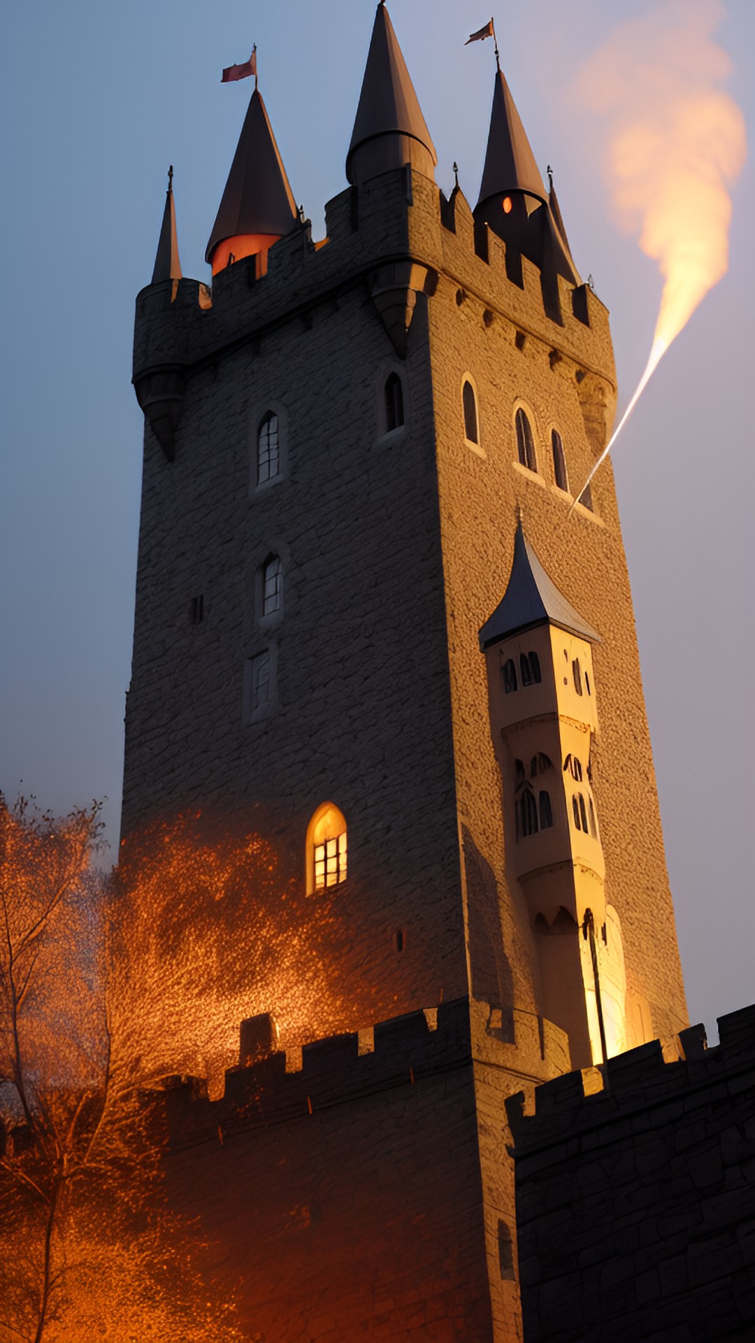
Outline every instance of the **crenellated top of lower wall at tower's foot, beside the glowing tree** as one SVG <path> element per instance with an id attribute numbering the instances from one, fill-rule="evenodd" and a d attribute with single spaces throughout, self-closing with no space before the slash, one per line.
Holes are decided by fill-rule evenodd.
<path id="1" fill-rule="evenodd" d="M 515 1011 L 516 1044 L 502 1044 L 494 1030 L 482 1038 L 480 1023 L 490 1015 L 489 1005 L 457 998 L 438 1009 L 379 1022 L 372 1030 L 371 1048 L 365 1048 L 368 1031 L 313 1041 L 304 1046 L 302 1065 L 296 1072 L 286 1070 L 286 1054 L 277 1048 L 273 1019 L 266 1014 L 250 1018 L 240 1030 L 242 1064 L 226 1073 L 222 1099 L 208 1099 L 203 1078 L 165 1080 L 168 1144 L 181 1148 L 218 1142 L 219 1131 L 230 1135 L 255 1125 L 306 1119 L 318 1109 L 367 1095 L 419 1086 L 442 1073 L 469 1069 L 472 1074 L 476 1065 L 510 1070 L 516 1085 L 517 1077 L 531 1076 L 535 1053 L 531 1033 L 539 1035 L 541 1077 L 552 1077 L 563 1068 L 566 1037 L 551 1022 L 537 1023 L 529 1014 Z M 434 1029 L 429 1018 L 435 1018 Z"/>

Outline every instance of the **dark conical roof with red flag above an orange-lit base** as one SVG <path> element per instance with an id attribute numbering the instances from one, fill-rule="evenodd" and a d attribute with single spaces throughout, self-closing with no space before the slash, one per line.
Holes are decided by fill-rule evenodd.
<path id="1" fill-rule="evenodd" d="M 297 208 L 275 136 L 255 89 L 245 117 L 220 208 L 207 243 L 206 261 L 218 243 L 242 234 L 290 232 Z"/>

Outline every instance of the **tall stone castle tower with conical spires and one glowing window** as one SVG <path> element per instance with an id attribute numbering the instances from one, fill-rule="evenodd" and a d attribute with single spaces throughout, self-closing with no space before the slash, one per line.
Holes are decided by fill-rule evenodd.
<path id="1" fill-rule="evenodd" d="M 257 94 L 211 295 L 164 275 L 137 299 L 124 835 L 197 806 L 240 818 L 282 884 L 333 900 L 328 1015 L 279 1021 L 283 1048 L 438 1005 L 441 1030 L 466 1003 L 458 1284 L 484 1288 L 458 1311 L 462 1336 L 515 1339 L 505 1096 L 685 1025 L 610 463 L 570 516 L 615 408 L 609 318 L 500 71 L 480 204 L 445 199 L 383 4 L 322 242 L 277 149 L 238 188 L 247 125 L 274 146 Z M 253 180 L 254 210 L 226 211 Z M 250 1014 L 271 998 L 250 983 Z M 407 1245 L 437 1287 L 442 1245 Z M 373 1336 L 408 1339 L 391 1309 Z"/>

